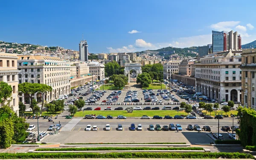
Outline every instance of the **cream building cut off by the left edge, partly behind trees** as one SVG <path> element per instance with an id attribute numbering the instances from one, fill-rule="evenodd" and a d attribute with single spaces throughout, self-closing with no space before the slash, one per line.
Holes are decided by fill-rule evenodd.
<path id="1" fill-rule="evenodd" d="M 4 81 L 12 87 L 12 97 L 8 99 L 9 107 L 13 107 L 14 112 L 19 115 L 18 101 L 18 74 L 17 54 L 0 53 L 0 81 Z M 7 103 L 5 103 L 7 104 Z M 4 104 L 0 104 L 2 107 Z"/>

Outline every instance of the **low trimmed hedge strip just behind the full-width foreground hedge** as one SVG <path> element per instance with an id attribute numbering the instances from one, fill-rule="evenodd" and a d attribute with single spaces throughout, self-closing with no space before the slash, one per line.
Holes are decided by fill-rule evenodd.
<path id="1" fill-rule="evenodd" d="M 96 148 L 45 148 L 35 151 L 145 151 L 145 150 L 204 150 L 201 147 L 173 147 L 173 148 L 150 148 L 150 147 L 96 147 Z"/>

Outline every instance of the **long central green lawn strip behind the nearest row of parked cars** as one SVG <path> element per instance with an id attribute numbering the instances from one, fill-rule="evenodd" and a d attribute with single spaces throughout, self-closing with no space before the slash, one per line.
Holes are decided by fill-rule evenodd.
<path id="1" fill-rule="evenodd" d="M 101 109 L 105 109 L 106 107 L 101 107 Z M 112 107 L 112 109 L 114 109 L 114 107 Z M 174 117 L 175 115 L 177 115 L 177 111 L 175 110 L 134 110 L 132 113 L 128 113 L 126 110 L 108 110 L 108 111 L 92 110 L 92 111 L 76 112 L 75 117 L 84 117 L 84 115 L 90 115 L 90 114 L 103 115 L 103 116 L 112 115 L 113 117 L 117 117 L 118 115 L 123 115 L 126 117 L 141 117 L 143 115 L 148 115 L 152 118 L 154 115 L 159 115 L 162 117 L 164 117 L 165 115 L 170 115 Z M 188 114 L 184 111 L 179 111 L 178 115 L 188 115 Z"/>

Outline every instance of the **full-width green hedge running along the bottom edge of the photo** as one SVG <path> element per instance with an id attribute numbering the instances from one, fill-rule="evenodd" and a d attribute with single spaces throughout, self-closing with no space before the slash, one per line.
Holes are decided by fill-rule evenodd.
<path id="1" fill-rule="evenodd" d="M 226 159 L 254 159 L 251 154 L 244 153 L 0 153 L 0 159 L 61 159 L 61 158 L 226 158 Z"/>

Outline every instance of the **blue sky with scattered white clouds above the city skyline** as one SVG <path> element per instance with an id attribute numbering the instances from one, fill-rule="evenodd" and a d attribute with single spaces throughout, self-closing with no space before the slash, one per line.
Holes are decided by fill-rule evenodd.
<path id="1" fill-rule="evenodd" d="M 0 40 L 79 50 L 84 34 L 90 53 L 135 52 L 207 45 L 212 30 L 233 30 L 245 44 L 256 40 L 255 6 L 255 0 L 5 0 Z"/>

